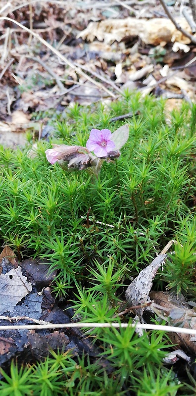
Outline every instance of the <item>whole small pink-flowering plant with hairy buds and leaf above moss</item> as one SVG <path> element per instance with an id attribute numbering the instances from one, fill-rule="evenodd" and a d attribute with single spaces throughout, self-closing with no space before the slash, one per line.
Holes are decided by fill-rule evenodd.
<path id="1" fill-rule="evenodd" d="M 58 162 L 68 171 L 86 169 L 88 173 L 98 177 L 102 163 L 118 158 L 119 149 L 124 146 L 128 137 L 128 125 L 123 125 L 113 133 L 109 129 L 99 131 L 94 128 L 87 141 L 87 147 L 53 145 L 53 148 L 49 148 L 45 153 L 52 165 Z"/>

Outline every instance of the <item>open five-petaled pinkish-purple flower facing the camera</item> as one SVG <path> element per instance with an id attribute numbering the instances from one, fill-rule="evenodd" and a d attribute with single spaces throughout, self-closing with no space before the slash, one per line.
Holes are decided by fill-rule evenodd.
<path id="1" fill-rule="evenodd" d="M 89 151 L 94 151 L 98 158 L 106 157 L 108 152 L 115 148 L 115 143 L 111 140 L 112 134 L 109 129 L 92 129 L 89 140 L 87 141 L 87 148 Z"/>

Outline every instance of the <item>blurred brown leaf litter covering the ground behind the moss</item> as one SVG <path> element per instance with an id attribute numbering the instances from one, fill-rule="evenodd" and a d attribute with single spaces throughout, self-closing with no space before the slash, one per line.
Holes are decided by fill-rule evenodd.
<path id="1" fill-rule="evenodd" d="M 126 88 L 158 95 L 159 86 L 159 95 L 169 89 L 170 97 L 195 99 L 195 74 L 189 73 L 195 67 L 195 49 L 161 4 L 143 0 L 131 7 L 117 2 L 114 7 L 107 1 L 74 1 L 73 6 L 70 1 L 41 1 L 30 7 L 2 0 L 0 17 L 0 139 L 4 145 L 24 146 L 26 128 L 37 133 L 37 123 L 31 120 L 35 111 L 58 113 L 75 102 L 112 100 Z M 9 21 L 2 19 L 7 17 Z M 191 34 L 177 6 L 175 18 Z M 25 22 L 29 34 L 14 21 Z M 33 34 L 49 41 L 53 50 Z M 164 65 L 168 65 L 167 76 L 161 83 Z M 149 82 L 144 83 L 145 77 L 150 77 Z M 43 117 L 43 129 L 47 122 Z"/>

